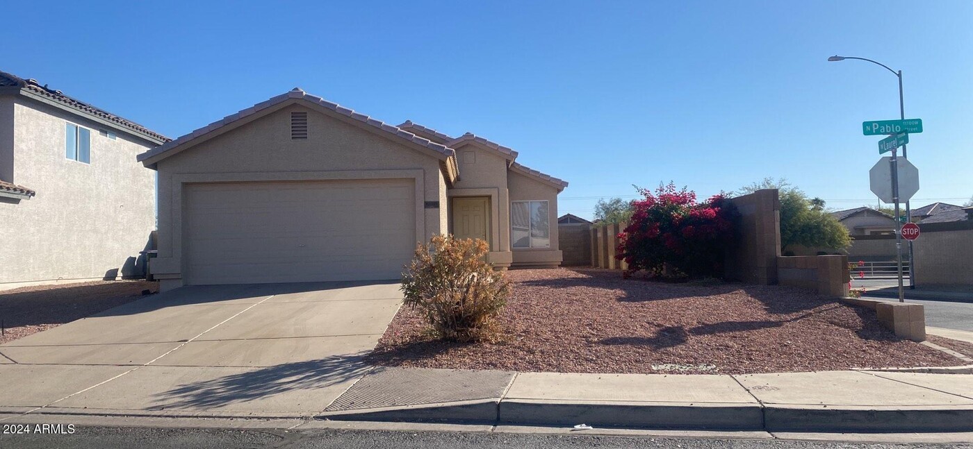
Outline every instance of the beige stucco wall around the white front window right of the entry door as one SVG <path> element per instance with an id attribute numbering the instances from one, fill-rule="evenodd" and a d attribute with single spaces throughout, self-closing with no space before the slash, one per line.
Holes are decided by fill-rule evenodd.
<path id="1" fill-rule="evenodd" d="M 547 183 L 514 170 L 507 172 L 507 188 L 510 190 L 510 201 L 547 200 L 548 223 L 551 224 L 551 248 L 511 248 L 513 252 L 513 264 L 511 266 L 559 265 L 563 255 L 559 250 L 558 190 Z M 508 228 L 510 226 L 509 220 L 507 226 Z"/>

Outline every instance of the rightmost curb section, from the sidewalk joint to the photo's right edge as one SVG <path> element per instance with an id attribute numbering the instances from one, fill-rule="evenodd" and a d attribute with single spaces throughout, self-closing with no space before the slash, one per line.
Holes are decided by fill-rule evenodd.
<path id="1" fill-rule="evenodd" d="M 767 432 L 969 432 L 973 405 L 836 407 L 765 405 Z"/>

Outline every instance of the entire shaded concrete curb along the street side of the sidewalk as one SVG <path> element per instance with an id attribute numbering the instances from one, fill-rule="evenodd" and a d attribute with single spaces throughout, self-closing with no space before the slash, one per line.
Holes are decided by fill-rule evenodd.
<path id="1" fill-rule="evenodd" d="M 332 421 L 765 432 L 973 432 L 973 405 L 830 406 L 504 399 L 327 412 Z"/>

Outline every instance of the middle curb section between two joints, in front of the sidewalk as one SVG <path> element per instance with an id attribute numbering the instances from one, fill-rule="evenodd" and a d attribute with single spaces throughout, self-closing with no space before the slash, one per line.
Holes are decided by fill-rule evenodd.
<path id="1" fill-rule="evenodd" d="M 651 403 L 531 399 L 500 401 L 500 424 L 760 430 L 760 405 L 741 403 Z"/>

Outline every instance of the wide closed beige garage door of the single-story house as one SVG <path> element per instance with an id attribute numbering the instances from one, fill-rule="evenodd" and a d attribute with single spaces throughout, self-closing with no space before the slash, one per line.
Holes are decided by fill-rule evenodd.
<path id="1" fill-rule="evenodd" d="M 398 279 L 414 250 L 413 180 L 197 184 L 185 191 L 188 284 Z"/>

